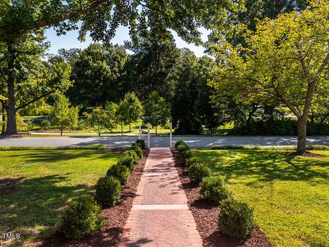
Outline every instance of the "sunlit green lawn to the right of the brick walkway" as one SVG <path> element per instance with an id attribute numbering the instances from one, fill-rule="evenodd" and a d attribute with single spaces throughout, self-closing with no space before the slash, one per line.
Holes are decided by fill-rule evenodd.
<path id="1" fill-rule="evenodd" d="M 329 151 L 315 151 L 329 155 Z M 273 246 L 329 246 L 329 156 L 255 150 L 199 150 L 234 198 L 254 207 Z"/>

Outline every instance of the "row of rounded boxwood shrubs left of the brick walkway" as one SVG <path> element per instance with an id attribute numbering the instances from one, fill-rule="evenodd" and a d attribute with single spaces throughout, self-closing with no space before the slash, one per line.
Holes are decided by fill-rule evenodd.
<path id="1" fill-rule="evenodd" d="M 112 165 L 106 176 L 97 181 L 94 198 L 82 196 L 73 199 L 62 215 L 62 232 L 68 238 L 81 239 L 97 233 L 104 220 L 99 215 L 102 207 L 112 207 L 121 201 L 121 186 L 127 183 L 134 165 L 143 157 L 145 142 L 137 140 L 123 152 L 117 164 Z"/>

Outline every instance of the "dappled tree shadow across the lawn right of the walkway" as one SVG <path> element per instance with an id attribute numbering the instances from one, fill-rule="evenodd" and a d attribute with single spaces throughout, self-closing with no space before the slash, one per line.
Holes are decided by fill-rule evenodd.
<path id="1" fill-rule="evenodd" d="M 208 167 L 223 174 L 226 180 L 248 176 L 259 182 L 302 180 L 313 183 L 313 180 L 321 178 L 321 182 L 317 179 L 317 183 L 329 183 L 329 161 L 326 159 L 254 150 L 199 152 L 197 156 L 204 158 Z M 326 167 L 328 169 L 323 169 Z"/>

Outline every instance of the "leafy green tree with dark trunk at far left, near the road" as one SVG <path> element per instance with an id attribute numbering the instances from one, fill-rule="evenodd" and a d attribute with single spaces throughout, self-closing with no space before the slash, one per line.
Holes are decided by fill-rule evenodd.
<path id="1" fill-rule="evenodd" d="M 54 56 L 42 60 L 46 44 L 40 36 L 27 35 L 0 50 L 0 99 L 7 113 L 6 134 L 16 134 L 16 111 L 56 91 L 71 86 L 71 66 Z M 1 47 L 1 43 L 0 43 Z"/>

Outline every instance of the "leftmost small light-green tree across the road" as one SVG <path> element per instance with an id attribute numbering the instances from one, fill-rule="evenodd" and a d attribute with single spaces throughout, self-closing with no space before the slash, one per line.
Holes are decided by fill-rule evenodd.
<path id="1" fill-rule="evenodd" d="M 50 115 L 51 124 L 60 128 L 60 135 L 62 136 L 64 130 L 77 127 L 78 113 L 79 109 L 71 107 L 69 99 L 64 95 L 59 95 Z"/>

